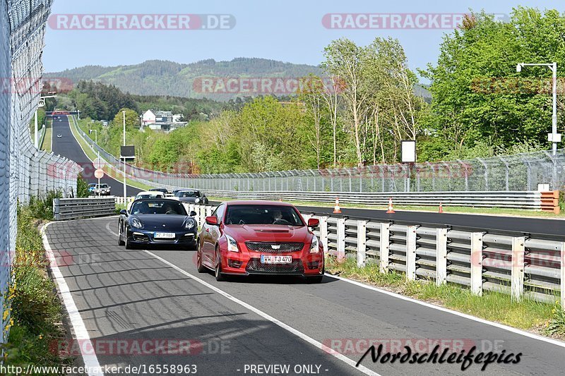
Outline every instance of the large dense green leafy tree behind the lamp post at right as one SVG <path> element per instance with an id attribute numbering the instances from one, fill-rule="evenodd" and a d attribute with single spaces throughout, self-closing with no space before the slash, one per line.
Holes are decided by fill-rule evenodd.
<path id="1" fill-rule="evenodd" d="M 522 140 L 547 147 L 552 99 L 540 87 L 551 73 L 516 73 L 516 64 L 563 61 L 563 35 L 565 16 L 558 11 L 518 7 L 509 23 L 471 13 L 460 30 L 444 37 L 437 63 L 422 71 L 432 80 L 434 98 L 427 128 L 443 140 L 444 155 L 457 156 L 480 140 L 491 142 L 489 153 Z M 563 72 L 561 64 L 558 76 Z M 536 87 L 535 81 L 542 84 Z"/>

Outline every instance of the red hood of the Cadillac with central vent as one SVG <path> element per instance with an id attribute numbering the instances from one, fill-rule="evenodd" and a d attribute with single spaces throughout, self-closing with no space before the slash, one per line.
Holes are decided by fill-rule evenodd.
<path id="1" fill-rule="evenodd" d="M 224 227 L 225 233 L 235 241 L 297 241 L 309 243 L 307 226 L 280 226 L 272 224 L 230 224 Z"/>

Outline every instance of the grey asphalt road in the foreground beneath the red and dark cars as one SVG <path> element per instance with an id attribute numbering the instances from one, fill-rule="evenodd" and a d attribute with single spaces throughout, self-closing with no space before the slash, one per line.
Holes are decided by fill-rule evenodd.
<path id="1" fill-rule="evenodd" d="M 66 255 L 60 269 L 91 338 L 196 339 L 205 344 L 205 351 L 191 356 L 98 351 L 100 365 L 196 364 L 198 375 L 249 375 L 243 372 L 246 364 L 289 364 L 291 370 L 314 364 L 321 365 L 322 375 L 360 374 L 153 255 L 119 247 L 116 231 L 116 217 L 55 222 L 46 231 L 56 256 Z M 363 339 L 387 344 L 443 339 L 445 344 L 456 341 L 485 352 L 523 353 L 520 363 L 491 364 L 485 372 L 479 365 L 462 372 L 460 365 L 447 363 L 381 364 L 365 358 L 362 365 L 380 375 L 561 375 L 565 367 L 564 347 L 333 277 L 326 276 L 322 284 L 306 284 L 295 277 L 217 282 L 210 273 L 198 274 L 194 252 L 150 252 L 355 362 L 366 349 L 359 347 Z M 211 350 L 219 343 L 225 345 L 224 351 Z M 422 351 L 431 351 L 428 348 Z"/>

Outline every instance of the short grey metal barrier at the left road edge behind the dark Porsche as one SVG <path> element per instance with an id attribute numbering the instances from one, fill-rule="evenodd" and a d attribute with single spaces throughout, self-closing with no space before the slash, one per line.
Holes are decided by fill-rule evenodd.
<path id="1" fill-rule="evenodd" d="M 55 198 L 53 217 L 56 221 L 88 217 L 104 217 L 116 212 L 116 198 Z"/>

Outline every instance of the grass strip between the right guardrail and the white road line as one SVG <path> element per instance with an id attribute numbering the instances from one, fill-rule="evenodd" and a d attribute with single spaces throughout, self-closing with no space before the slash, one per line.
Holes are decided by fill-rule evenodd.
<path id="1" fill-rule="evenodd" d="M 484 291 L 483 296 L 476 296 L 470 290 L 453 284 L 436 286 L 429 281 L 408 281 L 405 274 L 379 272 L 377 264 L 357 267 L 355 260 L 347 259 L 338 262 L 335 257 L 331 256 L 326 258 L 326 272 L 379 286 L 485 320 L 500 322 L 538 334 L 565 338 L 565 311 L 557 303 L 551 305 L 529 299 L 516 302 L 511 301 L 509 295 L 492 291 Z"/>

